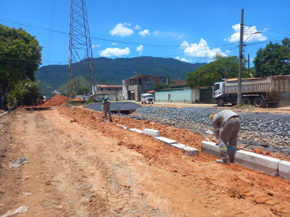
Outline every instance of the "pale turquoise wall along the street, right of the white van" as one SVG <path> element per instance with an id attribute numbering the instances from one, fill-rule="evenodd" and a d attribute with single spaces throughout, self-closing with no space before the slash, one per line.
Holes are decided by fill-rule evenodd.
<path id="1" fill-rule="evenodd" d="M 170 93 L 171 102 L 192 102 L 192 90 L 168 90 L 155 92 L 155 102 L 167 102 L 168 93 Z"/>

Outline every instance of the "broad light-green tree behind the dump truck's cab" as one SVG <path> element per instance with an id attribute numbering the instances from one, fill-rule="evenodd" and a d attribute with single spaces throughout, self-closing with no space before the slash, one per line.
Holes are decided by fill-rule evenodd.
<path id="1" fill-rule="evenodd" d="M 203 65 L 194 72 L 187 73 L 186 85 L 194 88 L 197 86 L 212 86 L 222 78 L 237 78 L 239 58 L 237 56 L 224 56 L 216 54 L 214 61 Z M 246 62 L 243 60 L 243 77 L 247 78 Z"/>

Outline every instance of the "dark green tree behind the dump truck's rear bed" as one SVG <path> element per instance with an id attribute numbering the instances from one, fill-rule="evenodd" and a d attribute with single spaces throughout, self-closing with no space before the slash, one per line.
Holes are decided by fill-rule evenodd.
<path id="1" fill-rule="evenodd" d="M 290 74 L 290 41 L 282 40 L 282 44 L 272 43 L 260 48 L 253 61 L 255 64 L 255 76 L 266 77 L 273 75 Z"/>

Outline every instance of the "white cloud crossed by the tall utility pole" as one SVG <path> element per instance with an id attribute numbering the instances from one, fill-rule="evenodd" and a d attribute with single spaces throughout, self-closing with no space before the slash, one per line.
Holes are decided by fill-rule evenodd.
<path id="1" fill-rule="evenodd" d="M 229 38 L 224 38 L 224 41 L 229 42 L 239 42 L 240 41 L 240 24 L 235 24 L 232 26 L 232 28 L 235 30 L 235 33 L 231 35 Z M 254 41 L 265 41 L 267 40 L 266 36 L 263 36 L 262 33 L 252 34 L 259 32 L 255 26 L 249 27 L 244 26 L 244 41 L 247 42 L 254 42 Z M 252 35 L 251 35 L 252 34 Z"/>

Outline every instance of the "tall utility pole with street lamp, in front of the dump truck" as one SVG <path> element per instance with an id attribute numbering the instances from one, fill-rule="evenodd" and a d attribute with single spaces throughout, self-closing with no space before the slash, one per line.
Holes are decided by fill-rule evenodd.
<path id="1" fill-rule="evenodd" d="M 243 30 L 244 30 L 244 9 L 241 12 L 241 29 L 240 29 L 240 52 L 239 52 L 239 76 L 238 76 L 238 95 L 237 104 L 242 103 L 242 65 L 243 65 Z"/>

